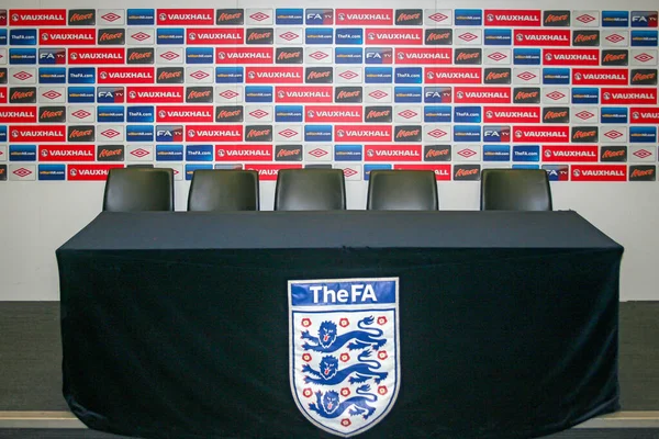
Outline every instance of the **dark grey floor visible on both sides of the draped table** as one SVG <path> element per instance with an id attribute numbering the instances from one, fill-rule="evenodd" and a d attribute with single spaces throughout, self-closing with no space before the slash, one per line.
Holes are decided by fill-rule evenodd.
<path id="1" fill-rule="evenodd" d="M 59 303 L 0 302 L 0 412 L 68 410 L 62 397 Z M 621 303 L 621 405 L 659 410 L 659 302 Z M 89 430 L 0 429 L 0 438 L 119 438 Z M 550 439 L 659 439 L 656 429 L 572 429 Z"/>

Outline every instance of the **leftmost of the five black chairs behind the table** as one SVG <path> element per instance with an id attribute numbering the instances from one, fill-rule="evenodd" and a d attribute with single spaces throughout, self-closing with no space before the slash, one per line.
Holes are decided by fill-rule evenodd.
<path id="1" fill-rule="evenodd" d="M 110 169 L 103 211 L 174 211 L 174 171 L 170 168 Z"/>

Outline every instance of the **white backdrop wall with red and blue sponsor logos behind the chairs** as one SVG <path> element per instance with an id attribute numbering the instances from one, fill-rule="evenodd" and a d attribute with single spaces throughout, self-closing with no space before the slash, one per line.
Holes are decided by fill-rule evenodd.
<path id="1" fill-rule="evenodd" d="M 200 168 L 258 170 L 263 209 L 281 168 L 343 168 L 348 209 L 432 169 L 474 210 L 482 169 L 540 167 L 625 246 L 622 299 L 659 300 L 655 1 L 2 8 L 0 300 L 58 299 L 55 248 L 131 164 L 174 168 L 178 210 Z"/>

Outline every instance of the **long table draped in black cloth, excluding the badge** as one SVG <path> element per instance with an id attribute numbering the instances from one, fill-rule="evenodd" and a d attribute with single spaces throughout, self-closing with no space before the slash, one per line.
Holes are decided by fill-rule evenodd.
<path id="1" fill-rule="evenodd" d="M 288 282 L 396 278 L 398 397 L 359 437 L 548 435 L 618 409 L 622 255 L 574 212 L 102 213 L 57 250 L 64 395 L 121 435 L 333 437 Z"/>

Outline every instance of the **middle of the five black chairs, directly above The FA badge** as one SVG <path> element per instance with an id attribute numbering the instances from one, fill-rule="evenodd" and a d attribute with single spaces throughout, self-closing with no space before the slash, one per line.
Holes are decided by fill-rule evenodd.
<path id="1" fill-rule="evenodd" d="M 275 189 L 276 211 L 336 211 L 346 209 L 342 169 L 281 169 Z"/>

